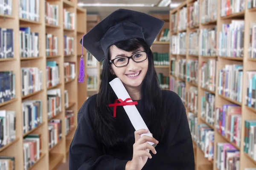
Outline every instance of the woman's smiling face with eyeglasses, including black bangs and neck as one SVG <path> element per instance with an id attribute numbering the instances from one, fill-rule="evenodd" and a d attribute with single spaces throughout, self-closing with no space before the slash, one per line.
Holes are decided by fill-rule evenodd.
<path id="1" fill-rule="evenodd" d="M 111 73 L 121 79 L 128 93 L 132 94 L 132 99 L 140 99 L 140 96 L 133 94 L 140 91 L 148 71 L 149 60 L 151 60 L 149 65 L 153 65 L 151 50 L 145 41 L 131 39 L 116 42 L 108 49 L 108 58 L 112 63 Z"/>

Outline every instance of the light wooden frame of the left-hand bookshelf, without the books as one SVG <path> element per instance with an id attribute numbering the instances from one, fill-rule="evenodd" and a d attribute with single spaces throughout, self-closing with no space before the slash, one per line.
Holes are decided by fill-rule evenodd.
<path id="1" fill-rule="evenodd" d="M 13 71 L 15 74 L 15 98 L 9 101 L 0 103 L 0 110 L 15 111 L 16 116 L 16 139 L 0 148 L 1 156 L 15 157 L 15 169 L 23 169 L 24 154 L 23 154 L 23 138 L 28 134 L 41 135 L 41 155 L 40 158 L 33 164 L 29 170 L 53 170 L 58 168 L 61 163 L 66 162 L 67 153 L 69 150 L 70 139 L 73 138 L 74 131 L 77 127 L 77 112 L 81 107 L 81 103 L 86 100 L 86 93 L 80 93 L 79 89 L 85 89 L 86 86 L 79 84 L 78 73 L 81 54 L 80 40 L 86 31 L 86 9 L 77 6 L 77 0 L 46 0 L 47 3 L 58 6 L 58 25 L 52 25 L 46 22 L 44 0 L 39 0 L 39 20 L 29 20 L 19 17 L 20 6 L 19 0 L 12 0 L 12 14 L 0 14 L 0 28 L 12 28 L 14 32 L 13 41 L 13 58 L 0 59 L 0 71 Z M 74 13 L 74 29 L 64 28 L 63 24 L 63 9 Z M 21 57 L 20 56 L 20 27 L 30 27 L 30 31 L 38 33 L 38 56 Z M 53 34 L 58 38 L 58 52 L 56 55 L 47 56 L 47 40 L 46 34 Z M 64 55 L 64 35 L 73 37 L 73 54 Z M 85 51 L 85 50 L 84 50 Z M 68 56 L 68 57 L 67 57 Z M 59 67 L 60 82 L 57 85 L 47 87 L 47 61 L 56 61 Z M 64 63 L 73 62 L 75 64 L 75 78 L 65 81 Z M 22 72 L 23 67 L 35 67 L 41 71 L 42 87 L 38 91 L 22 95 Z M 67 83 L 68 82 L 68 83 Z M 86 82 L 85 82 L 86 83 Z M 54 147 L 49 148 L 49 120 L 47 117 L 47 91 L 55 88 L 61 90 L 61 112 L 56 114 L 51 119 L 61 120 L 61 139 Z M 64 91 L 67 90 L 69 106 L 65 108 Z M 23 132 L 23 110 L 22 103 L 27 100 L 41 100 L 42 123 L 36 127 Z M 65 110 L 72 110 L 74 113 L 74 128 L 70 129 L 66 138 L 65 125 Z"/>

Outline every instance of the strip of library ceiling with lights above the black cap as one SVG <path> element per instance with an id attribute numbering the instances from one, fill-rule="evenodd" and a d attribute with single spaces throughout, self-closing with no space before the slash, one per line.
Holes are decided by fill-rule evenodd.
<path id="1" fill-rule="evenodd" d="M 160 0 L 78 0 L 79 3 L 145 3 L 157 5 Z M 172 3 L 182 3 L 183 0 L 172 0 Z M 170 7 L 84 7 L 87 10 L 87 14 L 99 14 L 101 20 L 107 17 L 111 12 L 118 8 L 131 9 L 135 11 L 145 12 L 147 14 L 162 13 L 169 14 Z"/>

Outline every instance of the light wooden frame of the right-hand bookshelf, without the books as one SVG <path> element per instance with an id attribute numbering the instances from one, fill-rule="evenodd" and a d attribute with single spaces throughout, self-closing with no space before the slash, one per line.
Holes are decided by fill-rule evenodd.
<path id="1" fill-rule="evenodd" d="M 191 29 L 191 27 L 188 27 L 187 24 L 189 23 L 189 6 L 192 6 L 193 3 L 195 3 L 195 0 L 185 0 L 182 4 L 180 4 L 180 6 L 178 6 L 175 9 L 170 10 L 170 31 L 171 31 L 171 36 L 175 36 L 178 35 L 180 32 L 185 32 L 186 33 L 186 42 L 185 42 L 185 48 L 186 48 L 186 55 L 185 55 L 185 59 L 186 59 L 186 63 L 193 59 L 197 59 L 198 60 L 198 82 L 189 82 L 186 79 L 184 79 L 183 81 L 185 82 L 185 89 L 186 89 L 186 95 L 189 92 L 189 88 L 193 87 L 198 87 L 197 88 L 197 109 L 198 109 L 198 114 L 197 115 L 197 125 L 199 124 L 206 124 L 209 127 L 212 128 L 212 130 L 214 131 L 214 151 L 213 151 L 213 158 L 212 160 L 209 161 L 209 159 L 205 156 L 204 150 L 201 150 L 201 148 L 199 147 L 198 143 L 200 143 L 199 141 L 193 141 L 193 147 L 194 147 L 194 155 L 195 155 L 195 167 L 197 170 L 200 169 L 204 169 L 204 170 L 218 170 L 217 168 L 217 143 L 220 142 L 225 142 L 225 143 L 230 143 L 233 144 L 233 146 L 239 150 L 240 152 L 240 163 L 239 163 L 239 169 L 244 170 L 245 168 L 250 168 L 250 167 L 254 167 L 256 168 L 256 160 L 254 160 L 249 154 L 247 154 L 244 151 L 244 138 L 245 138 L 245 120 L 255 120 L 256 119 L 256 109 L 248 107 L 246 105 L 247 103 L 247 83 L 248 83 L 248 79 L 247 79 L 247 71 L 254 71 L 256 70 L 256 59 L 255 58 L 250 58 L 249 57 L 249 53 L 248 51 L 250 50 L 250 46 L 249 46 L 249 41 L 251 39 L 250 37 L 250 22 L 256 22 L 255 19 L 255 14 L 256 14 L 256 8 L 247 8 L 247 3 L 248 0 L 244 1 L 244 10 L 241 10 L 239 12 L 236 13 L 231 13 L 227 16 L 221 16 L 221 0 L 209 0 L 211 2 L 215 3 L 215 6 L 211 5 L 210 3 L 208 4 L 209 6 L 211 6 L 210 8 L 215 8 L 217 10 L 213 10 L 216 11 L 216 18 L 213 18 L 211 20 L 207 20 L 207 16 L 204 16 L 203 14 L 203 10 L 205 9 L 203 4 L 203 1 L 206 0 L 198 0 L 198 4 L 199 4 L 199 27 L 198 28 L 193 28 Z M 233 1 L 233 2 L 236 2 Z M 179 14 L 180 12 L 182 12 L 182 9 L 184 9 L 184 7 L 186 7 L 187 10 L 187 17 L 186 17 L 186 29 L 178 29 L 178 21 L 177 23 L 173 22 L 173 18 L 174 15 L 177 15 L 177 18 L 179 18 Z M 185 10 L 185 9 L 184 9 Z M 235 9 L 233 9 L 234 11 Z M 205 10 L 204 10 L 205 11 Z M 212 13 L 212 12 L 210 12 Z M 213 16 L 213 14 L 212 14 Z M 171 20 L 172 18 L 172 20 Z M 196 20 L 197 18 L 194 18 L 194 20 Z M 179 18 L 179 20 L 182 20 L 182 18 Z M 231 56 L 221 56 L 219 55 L 221 53 L 221 51 L 219 50 L 219 45 L 220 45 L 220 40 L 219 40 L 219 32 L 223 31 L 222 30 L 222 25 L 223 24 L 227 24 L 227 23 L 231 23 L 232 20 L 244 20 L 244 37 L 243 37 L 243 49 L 242 49 L 242 53 L 243 56 L 237 56 L 237 57 L 231 57 Z M 195 25 L 196 27 L 196 25 Z M 202 29 L 210 29 L 210 28 L 216 28 L 216 34 L 215 34 L 215 49 L 216 52 L 215 54 L 212 54 L 211 56 L 209 55 L 203 55 L 200 52 L 200 48 L 198 45 L 198 54 L 189 54 L 189 34 L 191 32 L 194 31 L 200 31 Z M 198 35 L 200 35 L 200 32 L 198 32 Z M 199 38 L 198 38 L 198 42 L 199 42 Z M 170 47 L 172 46 L 172 42 L 170 42 Z M 227 50 L 227 49 L 224 49 Z M 178 61 L 179 59 L 182 59 L 184 57 L 181 57 L 179 54 L 174 54 L 172 53 L 172 49 L 170 49 L 170 60 L 172 58 L 175 59 L 175 61 Z M 215 89 L 207 89 L 207 88 L 202 88 L 202 62 L 207 62 L 209 59 L 216 59 L 216 69 L 215 69 L 215 77 L 213 77 L 215 79 L 214 85 L 215 85 Z M 220 69 L 224 68 L 225 65 L 242 65 L 242 86 L 240 87 L 240 91 L 241 91 L 241 101 L 238 100 L 234 100 L 231 99 L 227 96 L 224 96 L 222 94 L 219 94 L 218 91 L 218 86 L 219 86 L 219 71 Z M 185 69 L 186 70 L 186 69 Z M 187 71 L 187 70 L 186 70 Z M 186 73 L 185 71 L 185 73 Z M 170 69 L 170 77 L 173 77 L 172 80 L 180 80 L 178 78 L 177 75 L 172 75 L 172 70 Z M 170 78 L 171 79 L 171 78 Z M 172 90 L 172 88 L 171 88 Z M 233 141 L 231 141 L 229 138 L 227 138 L 226 136 L 222 135 L 221 133 L 219 133 L 219 131 L 217 130 L 217 126 L 215 124 L 215 119 L 214 119 L 214 124 L 209 124 L 209 122 L 206 121 L 206 119 L 204 119 L 204 117 L 201 117 L 201 108 L 202 108 L 202 101 L 201 98 L 205 95 L 205 93 L 209 93 L 215 96 L 214 99 L 214 115 L 216 118 L 216 108 L 222 108 L 223 105 L 225 104 L 236 104 L 237 106 L 241 106 L 241 125 L 240 126 L 240 145 L 237 145 L 236 143 L 234 143 Z M 186 96 L 187 97 L 187 96 Z M 187 103 L 187 98 L 186 98 L 186 102 Z M 189 109 L 188 105 L 185 105 L 187 113 L 191 112 Z M 193 113 L 195 114 L 195 113 Z M 193 137 L 193 136 L 192 136 Z M 256 154 L 256 153 L 254 153 Z"/>

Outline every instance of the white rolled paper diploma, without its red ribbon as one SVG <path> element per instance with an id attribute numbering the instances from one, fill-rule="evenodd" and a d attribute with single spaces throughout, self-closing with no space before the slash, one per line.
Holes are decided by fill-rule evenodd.
<path id="1" fill-rule="evenodd" d="M 109 84 L 113 88 L 113 91 L 115 92 L 116 96 L 119 99 L 122 99 L 122 101 L 124 101 L 127 98 L 131 98 L 129 96 L 128 92 L 126 91 L 125 86 L 122 84 L 121 80 L 118 77 L 113 79 L 111 82 L 109 82 Z M 132 100 L 128 100 L 127 102 L 132 102 Z M 145 124 L 144 120 L 140 116 L 140 113 L 137 110 L 135 105 L 126 105 L 123 107 L 129 117 L 132 125 L 134 126 L 135 130 L 148 129 L 147 125 Z M 142 137 L 144 135 L 152 137 L 149 130 L 148 130 L 148 133 L 143 133 L 140 135 L 140 137 Z M 153 142 L 148 142 L 148 143 L 153 145 L 154 147 L 156 146 L 156 144 L 154 144 Z"/>

